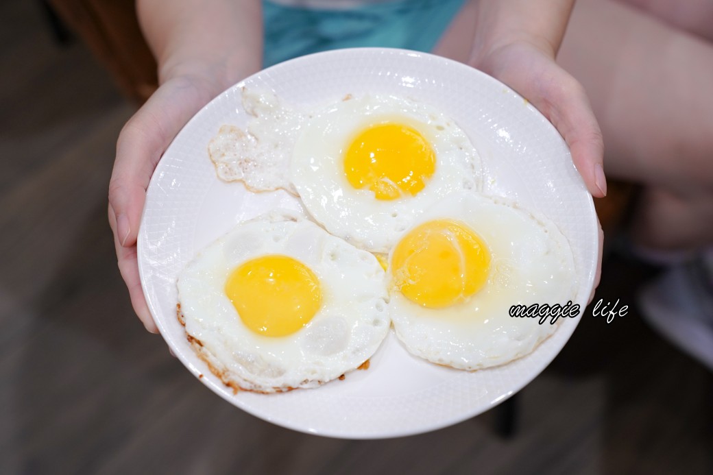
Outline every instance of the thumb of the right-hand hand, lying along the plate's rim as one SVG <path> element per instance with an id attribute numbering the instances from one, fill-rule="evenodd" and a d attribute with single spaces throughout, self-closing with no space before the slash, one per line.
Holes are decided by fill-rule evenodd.
<path id="1" fill-rule="evenodd" d="M 548 118 L 567 142 L 589 192 L 603 198 L 607 195 L 604 141 L 583 86 L 560 70 L 544 89 Z"/>

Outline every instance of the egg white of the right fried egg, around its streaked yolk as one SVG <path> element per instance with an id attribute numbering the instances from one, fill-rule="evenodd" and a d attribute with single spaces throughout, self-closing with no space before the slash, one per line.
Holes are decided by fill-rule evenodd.
<path id="1" fill-rule="evenodd" d="M 486 243 L 491 272 L 486 285 L 466 302 L 421 307 L 391 291 L 394 330 L 416 356 L 458 369 L 481 369 L 525 356 L 555 332 L 558 322 L 511 317 L 512 305 L 565 305 L 577 289 L 573 255 L 566 238 L 543 217 L 504 198 L 461 193 L 422 215 L 464 223 Z M 393 252 L 389 255 L 391 263 Z M 561 320 L 560 320 L 561 322 Z"/>

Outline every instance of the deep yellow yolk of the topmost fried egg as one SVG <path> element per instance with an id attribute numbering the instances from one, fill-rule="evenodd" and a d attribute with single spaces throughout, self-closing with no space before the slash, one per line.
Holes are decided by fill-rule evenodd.
<path id="1" fill-rule="evenodd" d="M 361 131 L 344 155 L 347 180 L 374 192 L 377 200 L 415 196 L 436 170 L 436 154 L 414 128 L 382 123 Z"/>

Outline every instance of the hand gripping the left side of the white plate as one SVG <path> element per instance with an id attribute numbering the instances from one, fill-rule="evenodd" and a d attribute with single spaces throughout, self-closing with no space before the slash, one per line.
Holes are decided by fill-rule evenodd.
<path id="1" fill-rule="evenodd" d="M 161 155 L 178 131 L 217 93 L 220 86 L 201 76 L 165 81 L 123 127 L 109 182 L 109 224 L 121 277 L 131 305 L 146 330 L 157 333 L 138 274 L 136 239 L 146 188 Z"/>

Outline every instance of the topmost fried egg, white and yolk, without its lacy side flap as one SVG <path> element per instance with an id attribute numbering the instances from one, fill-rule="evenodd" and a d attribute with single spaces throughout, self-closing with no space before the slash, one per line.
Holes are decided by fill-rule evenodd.
<path id="1" fill-rule="evenodd" d="M 397 96 L 334 103 L 306 121 L 291 181 L 329 233 L 387 252 L 448 194 L 481 189 L 476 149 L 436 108 Z"/>

